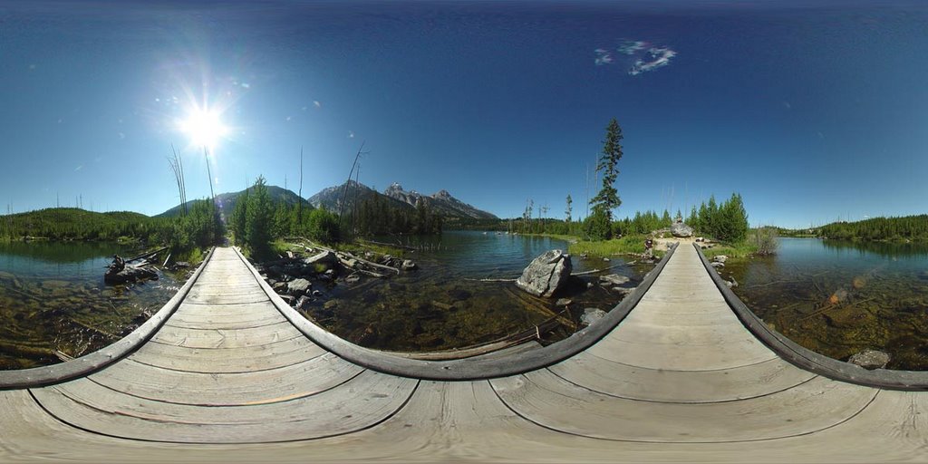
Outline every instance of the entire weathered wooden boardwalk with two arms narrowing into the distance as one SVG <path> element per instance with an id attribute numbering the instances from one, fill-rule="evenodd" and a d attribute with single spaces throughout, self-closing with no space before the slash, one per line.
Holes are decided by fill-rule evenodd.
<path id="1" fill-rule="evenodd" d="M 686 244 L 585 351 L 455 381 L 382 373 L 311 341 L 234 250 L 204 266 L 132 354 L 0 391 L 0 462 L 928 461 L 928 393 L 794 367 Z"/>

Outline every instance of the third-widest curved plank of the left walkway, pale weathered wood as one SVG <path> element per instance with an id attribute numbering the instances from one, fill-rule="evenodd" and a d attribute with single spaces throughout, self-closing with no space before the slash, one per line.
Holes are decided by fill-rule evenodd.
<path id="1" fill-rule="evenodd" d="M 187 348 L 147 343 L 129 356 L 136 362 L 187 372 L 234 373 L 290 366 L 326 352 L 305 337 L 238 348 Z"/>

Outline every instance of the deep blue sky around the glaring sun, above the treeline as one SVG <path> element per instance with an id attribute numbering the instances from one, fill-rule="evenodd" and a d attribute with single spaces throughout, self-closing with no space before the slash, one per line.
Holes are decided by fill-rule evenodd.
<path id="1" fill-rule="evenodd" d="M 925 213 L 919 3 L 0 4 L 0 204 L 156 214 L 209 195 L 178 122 L 224 109 L 216 193 L 393 182 L 586 213 L 611 118 L 619 217 L 740 192 L 752 224 Z M 599 186 L 591 186 L 589 196 Z M 0 212 L 2 213 L 2 212 Z"/>

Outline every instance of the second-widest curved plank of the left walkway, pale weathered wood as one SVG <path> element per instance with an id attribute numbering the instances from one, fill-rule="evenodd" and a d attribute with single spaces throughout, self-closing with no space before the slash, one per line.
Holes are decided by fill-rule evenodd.
<path id="1" fill-rule="evenodd" d="M 127 360 L 88 379 L 116 392 L 166 403 L 240 406 L 324 392 L 351 380 L 362 370 L 334 354 L 304 359 L 288 366 L 237 373 L 187 372 Z M 68 390 L 71 383 L 60 387 Z"/>

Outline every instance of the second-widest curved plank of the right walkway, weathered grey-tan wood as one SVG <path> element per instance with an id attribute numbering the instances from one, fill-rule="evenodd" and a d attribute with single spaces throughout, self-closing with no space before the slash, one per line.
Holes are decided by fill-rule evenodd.
<path id="1" fill-rule="evenodd" d="M 581 387 L 627 399 L 667 403 L 713 403 L 777 393 L 813 379 L 780 358 L 709 371 L 649 369 L 615 363 L 588 352 L 548 367 Z"/>

